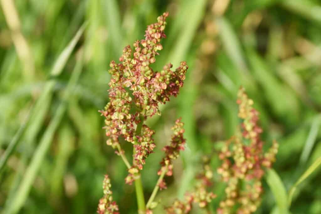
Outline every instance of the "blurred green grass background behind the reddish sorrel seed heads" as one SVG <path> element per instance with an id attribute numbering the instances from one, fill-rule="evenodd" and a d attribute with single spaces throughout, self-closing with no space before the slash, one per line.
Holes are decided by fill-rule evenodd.
<path id="1" fill-rule="evenodd" d="M 189 70 L 180 95 L 148 120 L 157 148 L 142 174 L 146 199 L 180 116 L 188 147 L 155 213 L 192 188 L 202 154 L 235 132 L 240 85 L 260 111 L 264 140 L 280 143 L 274 168 L 285 189 L 321 156 L 317 0 L 1 0 L 0 212 L 94 213 L 108 173 L 120 212 L 136 213 L 134 187 L 105 144 L 98 110 L 108 102 L 109 62 L 164 11 L 167 38 L 154 68 L 185 60 Z M 131 145 L 124 148 L 129 157 Z M 224 192 L 215 180 L 214 209 Z M 294 194 L 292 213 L 321 213 L 320 180 L 317 168 Z M 264 186 L 256 213 L 277 213 Z"/>

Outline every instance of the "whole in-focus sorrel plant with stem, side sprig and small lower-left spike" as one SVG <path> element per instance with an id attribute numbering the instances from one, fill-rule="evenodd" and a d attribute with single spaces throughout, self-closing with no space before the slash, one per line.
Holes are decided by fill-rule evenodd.
<path id="1" fill-rule="evenodd" d="M 172 159 L 184 149 L 183 123 L 176 120 L 172 130 L 174 134 L 169 146 L 164 147 L 165 158 L 161 161 L 158 171 L 160 178 L 155 186 L 151 198 L 145 204 L 143 196 L 140 171 L 143 169 L 145 159 L 153 152 L 155 143 L 152 138 L 154 131 L 144 121 L 147 117 L 160 114 L 159 103 L 166 103 L 170 96 L 177 96 L 179 88 L 183 86 L 188 66 L 181 62 L 180 66 L 172 71 L 172 64 L 167 64 L 160 72 L 155 72 L 150 64 L 155 62 L 155 56 L 163 47 L 160 39 L 165 38 L 164 29 L 168 13 L 157 18 L 157 23 L 151 24 L 145 31 L 145 39 L 134 42 L 134 50 L 128 45 L 119 57 L 120 63 L 110 63 L 111 79 L 109 82 L 109 102 L 105 109 L 100 111 L 105 116 L 104 127 L 108 136 L 107 145 L 116 149 L 128 168 L 126 184 L 135 183 L 136 197 L 139 213 L 152 213 L 155 206 L 153 199 L 158 189 L 165 189 L 163 181 L 165 175 L 172 175 Z M 118 138 L 124 138 L 133 144 L 132 163 L 124 155 Z M 156 172 L 155 172 L 156 173 Z M 98 213 L 118 213 L 118 206 L 112 201 L 110 182 L 106 175 L 104 184 L 104 197 L 100 200 Z"/>

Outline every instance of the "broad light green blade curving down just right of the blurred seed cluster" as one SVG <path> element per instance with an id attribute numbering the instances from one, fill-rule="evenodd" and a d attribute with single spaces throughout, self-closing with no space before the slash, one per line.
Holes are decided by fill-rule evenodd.
<path id="1" fill-rule="evenodd" d="M 274 169 L 268 169 L 266 171 L 265 179 L 274 195 L 279 213 L 289 213 L 286 189 L 279 175 L 274 171 Z"/>

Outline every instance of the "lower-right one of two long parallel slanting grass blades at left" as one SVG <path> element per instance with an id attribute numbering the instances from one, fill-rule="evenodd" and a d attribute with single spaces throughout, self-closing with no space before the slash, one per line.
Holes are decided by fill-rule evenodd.
<path id="1" fill-rule="evenodd" d="M 54 137 L 54 133 L 56 132 L 56 129 L 64 116 L 64 113 L 66 110 L 66 100 L 68 100 L 68 98 L 70 97 L 75 87 L 75 84 L 78 81 L 81 71 L 82 71 L 82 57 L 77 61 L 74 72 L 72 73 L 72 76 L 66 87 L 64 102 L 62 102 L 59 105 L 54 118 L 52 119 L 43 137 L 41 138 L 39 146 L 37 147 L 37 150 L 35 151 L 33 158 L 31 159 L 30 165 L 28 166 L 26 173 L 23 177 L 22 183 L 18 187 L 17 193 L 13 198 L 11 206 L 9 205 L 10 207 L 7 208 L 6 213 L 17 213 L 25 203 L 29 195 L 31 186 L 43 162 L 43 159 L 45 158 L 45 155 L 50 147 L 50 144 Z"/>

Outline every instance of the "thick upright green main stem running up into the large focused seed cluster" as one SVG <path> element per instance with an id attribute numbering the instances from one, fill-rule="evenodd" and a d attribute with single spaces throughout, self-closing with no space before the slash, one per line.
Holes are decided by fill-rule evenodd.
<path id="1" fill-rule="evenodd" d="M 135 132 L 136 135 L 141 135 L 142 127 L 144 123 L 143 116 L 140 116 L 139 118 L 140 118 L 140 123 L 137 124 L 136 132 Z M 137 142 L 135 144 L 137 144 Z M 135 154 L 135 148 L 134 148 L 134 154 Z M 133 160 L 133 164 L 134 164 L 134 160 Z M 139 178 L 135 180 L 135 190 L 136 190 L 138 213 L 143 214 L 146 211 L 143 185 L 142 185 L 142 179 L 141 179 L 140 173 L 137 173 L 137 176 Z"/>

